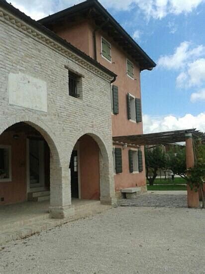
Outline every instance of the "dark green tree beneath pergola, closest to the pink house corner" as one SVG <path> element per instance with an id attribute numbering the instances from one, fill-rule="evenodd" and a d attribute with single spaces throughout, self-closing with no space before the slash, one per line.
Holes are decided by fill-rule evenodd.
<path id="1" fill-rule="evenodd" d="M 153 185 L 157 177 L 157 170 L 167 166 L 167 157 L 162 146 L 145 147 L 145 166 L 146 178 L 149 185 Z"/>

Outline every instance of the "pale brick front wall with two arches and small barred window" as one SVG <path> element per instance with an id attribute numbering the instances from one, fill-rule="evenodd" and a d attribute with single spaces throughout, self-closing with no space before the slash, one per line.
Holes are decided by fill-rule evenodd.
<path id="1" fill-rule="evenodd" d="M 69 159 L 76 141 L 85 134 L 91 135 L 97 141 L 103 157 L 101 201 L 112 203 L 112 77 L 100 72 L 94 65 L 87 64 L 85 60 L 76 58 L 75 54 L 69 53 L 66 56 L 66 50 L 62 50 L 62 47 L 61 50 L 58 47 L 52 48 L 50 38 L 47 39 L 43 34 L 39 36 L 39 33 L 36 36 L 33 31 L 32 28 L 29 31 L 29 26 L 18 18 L 0 10 L 0 134 L 17 122 L 26 122 L 48 142 L 51 149 L 51 211 L 54 217 L 64 217 L 66 208 L 72 211 Z M 68 94 L 68 69 L 65 66 L 83 76 L 80 98 Z M 10 101 L 8 88 L 14 84 L 13 77 L 10 77 L 13 75 L 14 79 L 21 76 L 22 83 L 17 92 L 22 91 L 22 104 L 26 103 L 28 107 L 34 108 L 31 104 L 33 97 L 29 92 L 41 89 L 39 83 L 45 83 L 43 91 L 46 87 L 47 112 L 45 108 L 41 108 L 43 111 L 38 110 L 39 102 L 36 102 L 35 109 L 31 109 L 21 107 L 19 102 L 15 105 L 15 99 Z"/>

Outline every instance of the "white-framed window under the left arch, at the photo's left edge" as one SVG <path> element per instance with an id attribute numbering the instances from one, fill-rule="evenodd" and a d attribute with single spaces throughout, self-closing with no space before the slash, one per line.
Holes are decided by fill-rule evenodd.
<path id="1" fill-rule="evenodd" d="M 0 181 L 11 180 L 11 148 L 9 145 L 0 145 Z"/>

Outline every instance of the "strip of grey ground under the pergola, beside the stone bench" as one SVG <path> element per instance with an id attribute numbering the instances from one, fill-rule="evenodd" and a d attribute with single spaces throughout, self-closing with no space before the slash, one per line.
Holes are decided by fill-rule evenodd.
<path id="1" fill-rule="evenodd" d="M 119 200 L 118 204 L 121 206 L 187 207 L 187 195 L 144 194 L 136 199 Z"/>

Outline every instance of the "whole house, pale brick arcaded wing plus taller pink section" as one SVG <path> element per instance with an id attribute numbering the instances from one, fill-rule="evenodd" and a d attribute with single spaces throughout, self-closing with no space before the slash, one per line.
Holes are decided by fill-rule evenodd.
<path id="1" fill-rule="evenodd" d="M 113 155 L 112 137 L 143 133 L 140 71 L 155 63 L 103 6 L 36 22 L 0 0 L 0 37 L 0 205 L 50 199 L 64 218 L 72 198 L 145 191 L 143 147 Z"/>

